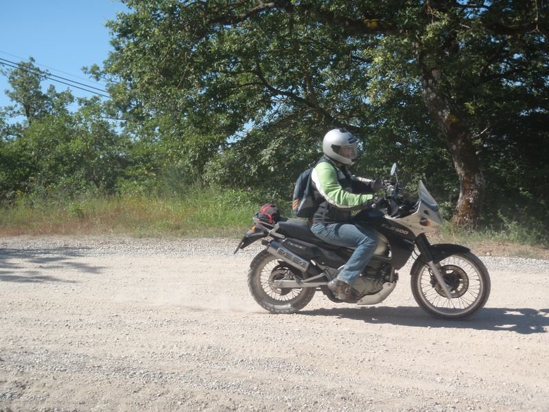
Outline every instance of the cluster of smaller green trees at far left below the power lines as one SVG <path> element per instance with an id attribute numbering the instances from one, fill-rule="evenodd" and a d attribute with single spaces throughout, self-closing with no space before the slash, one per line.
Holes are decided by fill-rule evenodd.
<path id="1" fill-rule="evenodd" d="M 114 193 L 128 165 L 128 136 L 104 118 L 99 98 L 80 99 L 71 113 L 70 91 L 44 92 L 44 72 L 33 62 L 6 73 L 14 104 L 0 111 L 0 193 Z"/>

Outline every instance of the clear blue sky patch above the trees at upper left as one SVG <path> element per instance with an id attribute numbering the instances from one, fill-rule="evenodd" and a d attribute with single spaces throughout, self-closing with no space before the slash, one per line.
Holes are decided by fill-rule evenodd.
<path id="1" fill-rule="evenodd" d="M 21 62 L 32 57 L 34 65 L 53 75 L 104 89 L 82 67 L 102 67 L 112 49 L 105 23 L 124 11 L 117 0 L 0 0 L 0 58 Z M 50 80 L 43 88 L 49 84 L 57 91 L 69 88 L 78 98 L 93 95 Z M 4 93 L 9 88 L 0 74 L 0 107 L 11 104 Z"/>

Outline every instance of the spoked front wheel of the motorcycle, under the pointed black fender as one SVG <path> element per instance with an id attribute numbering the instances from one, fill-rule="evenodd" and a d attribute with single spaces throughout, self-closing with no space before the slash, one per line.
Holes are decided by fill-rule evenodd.
<path id="1" fill-rule="evenodd" d="M 486 304 L 490 277 L 473 253 L 453 253 L 440 262 L 452 299 L 446 297 L 430 268 L 420 262 L 418 259 L 412 266 L 410 286 L 417 304 L 428 313 L 443 319 L 464 319 Z"/>

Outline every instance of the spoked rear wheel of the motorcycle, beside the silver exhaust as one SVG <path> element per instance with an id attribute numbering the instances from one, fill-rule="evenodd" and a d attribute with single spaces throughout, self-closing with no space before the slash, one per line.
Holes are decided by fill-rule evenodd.
<path id="1" fill-rule="evenodd" d="M 303 278 L 290 264 L 261 251 L 250 264 L 248 288 L 257 303 L 271 313 L 295 313 L 309 304 L 314 288 L 275 288 L 275 280 Z"/>

